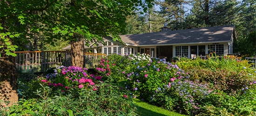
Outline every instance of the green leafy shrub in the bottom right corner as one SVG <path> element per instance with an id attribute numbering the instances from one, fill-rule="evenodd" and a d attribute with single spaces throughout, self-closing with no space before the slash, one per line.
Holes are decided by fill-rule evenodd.
<path id="1" fill-rule="evenodd" d="M 220 90 L 202 99 L 204 104 L 199 116 L 255 116 L 256 90 L 246 90 L 239 97 L 229 96 Z"/>

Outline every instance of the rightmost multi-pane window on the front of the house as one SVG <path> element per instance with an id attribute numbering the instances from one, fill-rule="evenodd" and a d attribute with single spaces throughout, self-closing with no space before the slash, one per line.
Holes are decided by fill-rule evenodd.
<path id="1" fill-rule="evenodd" d="M 224 45 L 216 44 L 216 45 L 208 45 L 208 53 L 215 52 L 217 56 L 224 55 Z"/>

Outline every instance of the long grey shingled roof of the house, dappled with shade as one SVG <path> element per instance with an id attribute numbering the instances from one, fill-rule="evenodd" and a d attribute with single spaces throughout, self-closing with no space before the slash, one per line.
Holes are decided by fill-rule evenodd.
<path id="1" fill-rule="evenodd" d="M 124 43 L 129 40 L 138 46 L 177 45 L 193 43 L 229 42 L 235 35 L 234 25 L 215 26 L 168 32 L 151 32 L 133 35 L 120 35 Z M 234 36 L 236 38 L 236 36 Z"/>

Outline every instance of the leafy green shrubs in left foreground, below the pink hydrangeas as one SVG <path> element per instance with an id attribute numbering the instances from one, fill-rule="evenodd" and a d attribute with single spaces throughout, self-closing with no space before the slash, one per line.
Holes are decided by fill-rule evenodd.
<path id="1" fill-rule="evenodd" d="M 136 108 L 131 97 L 119 87 L 107 83 L 97 84 L 98 90 L 71 88 L 65 94 L 41 84 L 36 91 L 40 99 L 20 101 L 8 110 L 0 111 L 3 116 L 135 116 Z"/>

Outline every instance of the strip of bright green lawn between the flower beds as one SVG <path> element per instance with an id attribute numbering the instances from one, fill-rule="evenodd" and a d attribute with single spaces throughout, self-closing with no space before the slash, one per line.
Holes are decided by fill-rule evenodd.
<path id="1" fill-rule="evenodd" d="M 154 105 L 150 105 L 139 99 L 133 99 L 133 102 L 138 108 L 138 112 L 141 116 L 185 116 L 185 115 L 181 115 L 175 112 L 162 109 Z"/>

